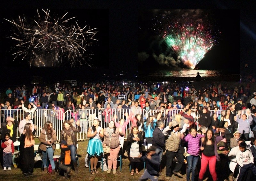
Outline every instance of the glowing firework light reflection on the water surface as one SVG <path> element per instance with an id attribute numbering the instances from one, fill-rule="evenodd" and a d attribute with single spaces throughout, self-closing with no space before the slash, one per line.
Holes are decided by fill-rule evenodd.
<path id="1" fill-rule="evenodd" d="M 219 77 L 225 75 L 232 75 L 232 73 L 228 74 L 226 71 L 220 70 L 172 70 L 172 71 L 157 71 L 154 73 L 149 73 L 149 75 L 155 76 L 163 76 L 163 77 L 195 77 L 197 72 L 200 73 L 201 77 Z"/>

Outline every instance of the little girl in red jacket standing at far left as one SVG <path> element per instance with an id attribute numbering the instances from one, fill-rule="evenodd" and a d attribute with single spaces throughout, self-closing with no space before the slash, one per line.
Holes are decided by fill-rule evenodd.
<path id="1" fill-rule="evenodd" d="M 8 170 L 11 170 L 12 165 L 12 155 L 14 154 L 13 141 L 10 139 L 9 133 L 4 135 L 5 142 L 2 143 L 1 147 L 4 149 L 3 161 L 4 161 L 4 170 L 8 167 Z"/>

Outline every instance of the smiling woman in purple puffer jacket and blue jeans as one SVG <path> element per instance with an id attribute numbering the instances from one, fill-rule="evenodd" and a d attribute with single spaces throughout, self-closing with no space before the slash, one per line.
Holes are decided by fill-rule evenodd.
<path id="1" fill-rule="evenodd" d="M 188 149 L 187 149 L 187 159 L 188 159 L 188 169 L 187 169 L 187 181 L 190 180 L 190 173 L 192 170 L 191 181 L 195 180 L 196 174 L 196 165 L 199 158 L 200 153 L 200 139 L 204 137 L 204 135 L 197 134 L 196 129 L 193 127 L 189 128 L 189 133 L 185 137 L 185 141 L 188 142 Z"/>

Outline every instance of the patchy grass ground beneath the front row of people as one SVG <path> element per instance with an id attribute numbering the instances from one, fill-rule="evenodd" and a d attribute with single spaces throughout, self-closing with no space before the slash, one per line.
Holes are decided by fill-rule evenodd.
<path id="1" fill-rule="evenodd" d="M 39 140 L 38 138 L 36 138 L 36 144 L 39 144 Z M 130 175 L 129 172 L 129 160 L 127 157 L 123 157 L 123 167 L 122 167 L 122 171 L 120 172 L 120 166 L 119 166 L 119 162 L 117 164 L 118 168 L 117 168 L 117 174 L 113 174 L 111 172 L 111 174 L 108 174 L 107 172 L 101 172 L 101 169 L 99 170 L 98 174 L 90 174 L 89 172 L 89 168 L 86 168 L 84 166 L 84 158 L 86 155 L 86 148 L 87 148 L 87 144 L 88 141 L 81 141 L 78 142 L 78 150 L 77 150 L 77 154 L 79 157 L 79 173 L 78 175 L 75 175 L 74 170 L 71 171 L 70 175 L 70 179 L 69 180 L 76 180 L 76 181 L 80 181 L 80 180 L 86 180 L 86 181 L 115 181 L 115 180 L 138 180 L 140 178 L 140 176 L 143 174 L 143 166 L 141 165 L 140 168 L 140 175 L 136 175 L 134 174 L 134 176 Z M 124 148 L 126 147 L 126 142 L 124 142 Z M 54 155 L 60 155 L 60 150 L 56 150 Z M 100 163 L 99 163 L 100 164 Z M 159 180 L 164 181 L 165 180 L 165 164 L 166 164 L 166 156 L 165 153 L 163 155 L 163 171 L 162 171 L 162 176 L 159 177 Z M 98 165 L 100 166 L 100 165 Z M 142 170 L 141 170 L 142 169 Z M 179 178 L 176 177 L 174 175 L 172 175 L 170 181 L 186 181 L 186 165 L 183 164 L 183 167 L 181 169 L 181 174 L 183 175 L 183 178 Z M 4 178 L 4 180 L 8 180 L 8 181 L 12 181 L 12 180 L 36 180 L 36 181 L 46 181 L 46 180 L 63 180 L 63 177 L 60 176 L 59 174 L 56 175 L 55 177 L 51 177 L 51 175 L 49 174 L 43 174 L 41 172 L 41 161 L 38 161 L 35 163 L 35 167 L 34 167 L 34 175 L 26 178 L 22 175 L 22 171 L 20 170 L 20 168 L 13 168 L 12 166 L 12 170 L 11 171 L 3 171 L 0 170 L 0 180 L 2 180 L 2 178 Z M 211 178 L 211 176 L 210 176 Z M 211 179 L 206 178 L 205 180 L 211 180 Z M 231 180 L 231 178 L 230 178 Z"/>

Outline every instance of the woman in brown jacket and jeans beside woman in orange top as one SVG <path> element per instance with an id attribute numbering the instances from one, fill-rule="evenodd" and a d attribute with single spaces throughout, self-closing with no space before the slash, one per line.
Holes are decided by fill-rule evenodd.
<path id="1" fill-rule="evenodd" d="M 54 142 L 57 140 L 56 132 L 52 129 L 52 123 L 50 121 L 46 121 L 44 123 L 44 128 L 42 129 L 39 137 L 40 146 L 39 148 L 42 150 L 43 154 L 43 165 L 44 165 L 44 173 L 47 173 L 47 156 L 52 165 L 52 177 L 56 175 L 55 165 L 53 160 L 53 152 L 55 149 Z"/>

